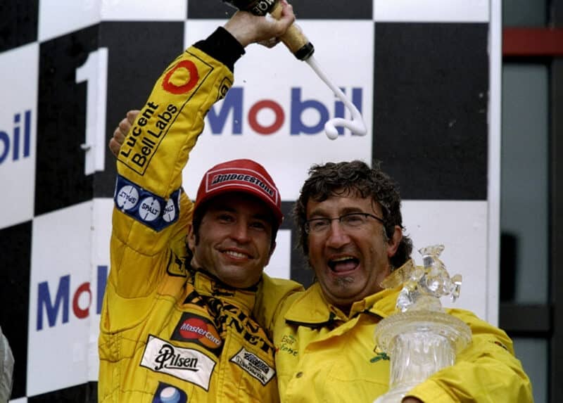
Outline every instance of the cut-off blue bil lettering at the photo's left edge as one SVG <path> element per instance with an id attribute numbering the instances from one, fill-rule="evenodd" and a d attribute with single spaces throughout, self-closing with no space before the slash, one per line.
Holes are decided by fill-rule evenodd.
<path id="1" fill-rule="evenodd" d="M 0 127 L 0 165 L 4 162 L 18 161 L 31 154 L 31 110 L 13 115 L 9 129 Z"/>

